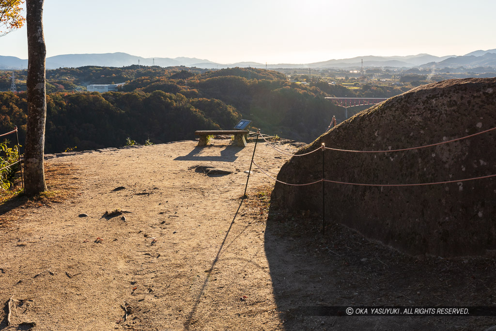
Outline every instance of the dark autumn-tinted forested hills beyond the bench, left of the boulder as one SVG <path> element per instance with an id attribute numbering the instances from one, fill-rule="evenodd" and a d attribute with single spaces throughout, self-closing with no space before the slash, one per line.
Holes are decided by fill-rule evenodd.
<path id="1" fill-rule="evenodd" d="M 195 130 L 232 129 L 241 118 L 267 134 L 311 141 L 340 113 L 318 87 L 265 69 L 80 67 L 48 70 L 47 77 L 56 88 L 47 95 L 48 153 L 122 146 L 127 137 L 139 143 L 190 139 Z M 118 92 L 73 88 L 123 81 Z M 17 125 L 23 141 L 26 114 L 25 92 L 0 92 L 0 132 Z"/>

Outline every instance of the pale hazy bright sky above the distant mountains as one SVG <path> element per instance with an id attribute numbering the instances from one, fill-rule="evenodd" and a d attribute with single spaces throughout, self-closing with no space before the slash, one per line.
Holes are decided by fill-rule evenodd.
<path id="1" fill-rule="evenodd" d="M 229 64 L 496 48 L 496 0 L 45 0 L 47 56 L 124 52 Z M 27 59 L 26 28 L 0 55 Z"/>

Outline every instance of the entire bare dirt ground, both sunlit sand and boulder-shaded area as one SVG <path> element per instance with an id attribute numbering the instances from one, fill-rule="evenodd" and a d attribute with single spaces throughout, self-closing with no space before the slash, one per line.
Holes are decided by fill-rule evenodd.
<path id="1" fill-rule="evenodd" d="M 332 213 L 322 236 L 318 215 L 269 203 L 273 181 L 257 170 L 242 199 L 253 144 L 229 142 L 48 159 L 69 192 L 62 202 L 0 206 L 0 330 L 27 330 L 20 324 L 28 321 L 54 331 L 496 325 L 489 317 L 302 315 L 304 306 L 496 306 L 496 261 L 406 256 L 338 225 Z M 300 145 L 285 142 L 288 151 Z M 288 158 L 257 145 L 256 162 L 271 172 Z"/>

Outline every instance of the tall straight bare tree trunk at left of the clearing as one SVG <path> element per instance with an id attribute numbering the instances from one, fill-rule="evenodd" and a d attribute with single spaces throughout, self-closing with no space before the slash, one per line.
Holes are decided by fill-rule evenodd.
<path id="1" fill-rule="evenodd" d="M 24 149 L 24 192 L 28 196 L 34 196 L 47 190 L 43 169 L 45 122 L 47 119 L 45 89 L 47 50 L 43 36 L 43 2 L 44 0 L 26 1 L 28 121 Z"/>

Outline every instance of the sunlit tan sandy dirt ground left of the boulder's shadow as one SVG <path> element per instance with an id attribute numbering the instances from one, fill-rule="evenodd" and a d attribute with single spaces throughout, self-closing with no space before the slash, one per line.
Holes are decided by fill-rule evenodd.
<path id="1" fill-rule="evenodd" d="M 264 226 L 241 212 L 253 144 L 227 142 L 49 159 L 77 168 L 67 184 L 79 195 L 30 209 L 0 230 L 0 302 L 13 295 L 16 307 L 11 327 L 0 313 L 0 330 L 22 321 L 35 321 L 36 330 L 278 329 Z M 287 157 L 258 144 L 256 159 L 276 171 Z M 254 172 L 250 188 L 270 182 Z M 130 212 L 125 221 L 102 217 L 115 209 Z M 124 302 L 132 307 L 127 321 Z"/>

